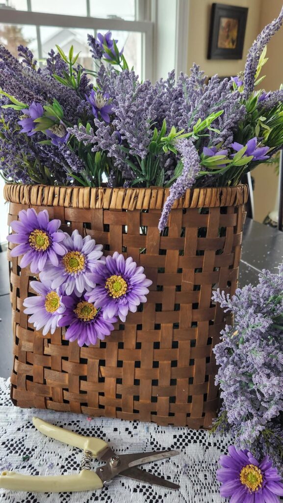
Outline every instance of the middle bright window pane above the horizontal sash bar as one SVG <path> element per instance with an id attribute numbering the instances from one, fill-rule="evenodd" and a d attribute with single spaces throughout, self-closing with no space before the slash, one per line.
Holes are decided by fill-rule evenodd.
<path id="1" fill-rule="evenodd" d="M 70 2 L 70 0 L 31 0 L 32 11 L 50 14 L 65 14 L 67 16 L 86 16 L 86 0 Z"/>

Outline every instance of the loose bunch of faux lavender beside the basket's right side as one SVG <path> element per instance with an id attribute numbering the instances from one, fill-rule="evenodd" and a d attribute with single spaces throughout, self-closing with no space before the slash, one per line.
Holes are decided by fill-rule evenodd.
<path id="1" fill-rule="evenodd" d="M 238 447 L 272 455 L 282 470 L 283 265 L 277 274 L 263 271 L 258 285 L 237 289 L 231 299 L 217 290 L 213 300 L 235 321 L 214 348 L 223 401 L 216 426 L 232 433 Z"/>

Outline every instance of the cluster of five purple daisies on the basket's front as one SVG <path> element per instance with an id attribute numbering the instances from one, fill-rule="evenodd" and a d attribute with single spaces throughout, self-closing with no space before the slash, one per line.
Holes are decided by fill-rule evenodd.
<path id="1" fill-rule="evenodd" d="M 20 266 L 30 266 L 39 281 L 30 286 L 37 294 L 24 300 L 24 312 L 36 330 L 54 333 L 67 327 L 65 338 L 79 346 L 96 344 L 110 336 L 114 323 L 146 302 L 148 287 L 144 268 L 131 257 L 115 252 L 103 255 L 103 245 L 77 230 L 71 236 L 60 230 L 60 220 L 50 220 L 46 210 L 19 212 L 11 222 L 16 243 L 12 257 L 23 256 Z"/>

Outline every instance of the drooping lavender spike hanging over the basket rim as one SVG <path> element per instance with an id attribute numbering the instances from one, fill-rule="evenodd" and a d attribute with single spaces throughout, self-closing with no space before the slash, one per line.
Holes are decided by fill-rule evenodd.
<path id="1" fill-rule="evenodd" d="M 166 227 L 174 201 L 193 186 L 200 171 L 200 158 L 193 141 L 191 139 L 183 139 L 179 142 L 178 148 L 182 156 L 183 171 L 172 187 L 170 187 L 170 194 L 165 201 L 158 224 L 160 231 Z"/>

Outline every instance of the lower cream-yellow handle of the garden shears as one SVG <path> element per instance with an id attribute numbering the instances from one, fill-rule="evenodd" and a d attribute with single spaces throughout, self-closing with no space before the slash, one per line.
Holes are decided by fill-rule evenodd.
<path id="1" fill-rule="evenodd" d="M 101 489 L 103 482 L 91 470 L 81 470 L 75 475 L 22 475 L 13 471 L 3 471 L 0 487 L 15 491 L 31 492 L 71 492 Z"/>

